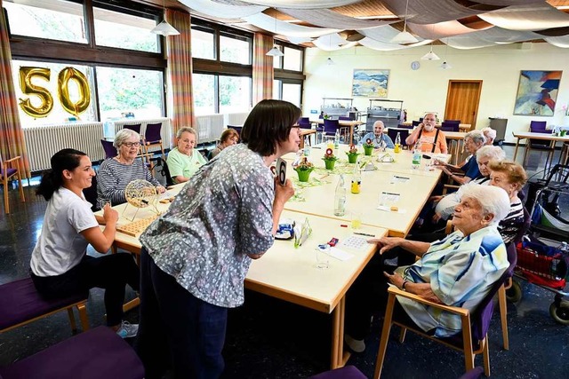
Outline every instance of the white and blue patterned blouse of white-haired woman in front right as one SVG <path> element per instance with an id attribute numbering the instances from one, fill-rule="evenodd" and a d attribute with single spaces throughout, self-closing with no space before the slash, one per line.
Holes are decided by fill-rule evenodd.
<path id="1" fill-rule="evenodd" d="M 509 267 L 508 253 L 495 225 L 463 237 L 457 231 L 430 244 L 429 250 L 410 266 L 397 268 L 405 280 L 430 283 L 432 291 L 447 305 L 472 312 Z M 441 312 L 413 300 L 397 297 L 405 312 L 424 331 L 453 336 L 461 331 L 461 317 Z"/>

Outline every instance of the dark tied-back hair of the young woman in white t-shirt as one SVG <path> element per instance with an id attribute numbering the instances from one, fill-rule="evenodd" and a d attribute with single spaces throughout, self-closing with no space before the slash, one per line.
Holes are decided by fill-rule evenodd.
<path id="1" fill-rule="evenodd" d="M 63 170 L 75 170 L 81 164 L 81 157 L 84 155 L 87 154 L 75 149 L 63 149 L 53 154 L 52 170 L 47 170 L 42 175 L 36 195 L 44 196 L 44 199 L 49 201 L 53 193 L 63 186 Z"/>

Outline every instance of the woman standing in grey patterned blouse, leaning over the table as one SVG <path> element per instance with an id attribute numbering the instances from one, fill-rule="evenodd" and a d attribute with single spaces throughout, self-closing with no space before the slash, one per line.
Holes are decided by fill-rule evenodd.
<path id="1" fill-rule="evenodd" d="M 286 101 L 260 101 L 244 122 L 243 144 L 202 166 L 140 236 L 137 351 L 148 379 L 170 364 L 176 378 L 221 375 L 228 308 L 243 304 L 251 260 L 273 245 L 294 193 L 290 180 L 276 184 L 269 166 L 298 151 L 300 116 Z"/>

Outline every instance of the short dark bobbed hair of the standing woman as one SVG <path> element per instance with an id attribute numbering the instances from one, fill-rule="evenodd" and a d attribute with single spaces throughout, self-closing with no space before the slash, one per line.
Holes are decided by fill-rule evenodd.
<path id="1" fill-rule="evenodd" d="M 284 142 L 301 117 L 301 109 L 283 100 L 261 100 L 244 122 L 241 140 L 255 153 L 276 153 L 276 144 Z"/>

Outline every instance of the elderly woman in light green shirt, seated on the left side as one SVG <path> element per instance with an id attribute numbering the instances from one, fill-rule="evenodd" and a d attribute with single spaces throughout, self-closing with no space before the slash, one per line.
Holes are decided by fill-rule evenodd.
<path id="1" fill-rule="evenodd" d="M 194 150 L 196 130 L 184 126 L 178 130 L 176 138 L 178 146 L 170 151 L 166 163 L 168 163 L 168 170 L 170 170 L 173 181 L 183 183 L 187 182 L 207 161 L 200 152 Z"/>

